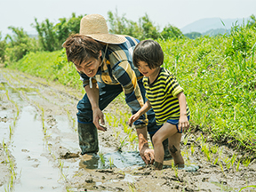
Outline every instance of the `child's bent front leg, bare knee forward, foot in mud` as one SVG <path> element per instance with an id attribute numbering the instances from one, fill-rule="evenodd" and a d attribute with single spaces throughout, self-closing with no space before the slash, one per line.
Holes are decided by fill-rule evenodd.
<path id="1" fill-rule="evenodd" d="M 177 132 L 177 129 L 175 125 L 166 123 L 153 136 L 152 141 L 154 144 L 155 168 L 157 170 L 161 170 L 163 168 L 163 163 L 164 163 L 163 141 L 167 138 L 170 138 L 176 132 Z"/>

